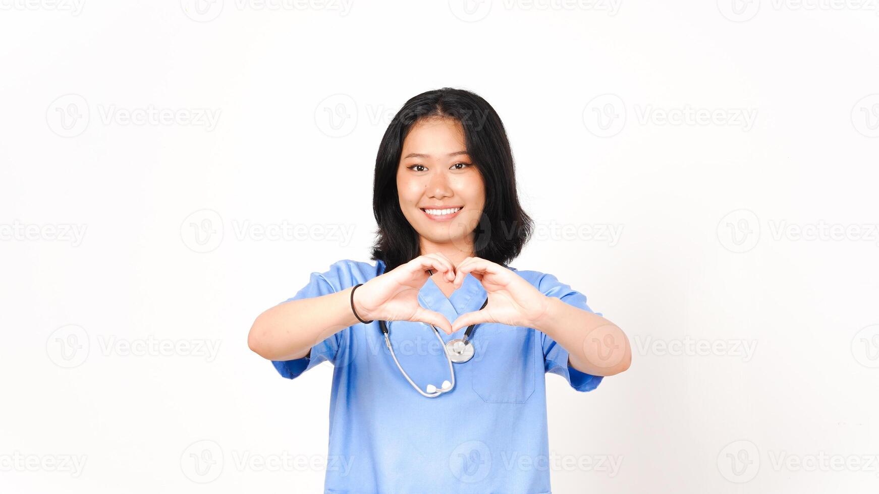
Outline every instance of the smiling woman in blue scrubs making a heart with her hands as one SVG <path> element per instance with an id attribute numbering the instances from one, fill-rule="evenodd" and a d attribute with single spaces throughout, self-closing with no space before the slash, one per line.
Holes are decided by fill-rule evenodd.
<path id="1" fill-rule="evenodd" d="M 381 140 L 373 209 L 374 264 L 312 273 L 248 338 L 290 379 L 333 363 L 325 490 L 549 492 L 545 373 L 593 390 L 631 351 L 583 294 L 507 266 L 532 220 L 490 104 L 449 88 L 407 101 Z M 439 340 L 470 325 L 473 355 L 452 364 Z"/>

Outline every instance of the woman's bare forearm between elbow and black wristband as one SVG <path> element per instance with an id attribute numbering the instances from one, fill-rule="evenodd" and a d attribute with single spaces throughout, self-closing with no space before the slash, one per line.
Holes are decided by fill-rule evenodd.
<path id="1" fill-rule="evenodd" d="M 351 290 L 275 305 L 253 322 L 248 346 L 274 361 L 308 355 L 317 343 L 360 322 L 351 310 Z"/>

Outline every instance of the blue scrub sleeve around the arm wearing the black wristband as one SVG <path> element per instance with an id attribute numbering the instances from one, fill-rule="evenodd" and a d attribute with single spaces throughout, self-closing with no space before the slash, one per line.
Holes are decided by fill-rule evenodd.
<path id="1" fill-rule="evenodd" d="M 291 300 L 299 300 L 301 298 L 321 297 L 323 295 L 335 293 L 338 290 L 342 289 L 340 277 L 338 276 L 338 268 L 334 265 L 330 271 L 325 273 L 311 273 L 309 284 L 299 290 L 294 297 L 288 298 L 284 302 L 281 302 L 281 304 L 285 304 Z M 311 354 L 309 354 L 308 357 L 302 357 L 301 359 L 290 361 L 272 361 L 272 364 L 275 369 L 278 369 L 280 375 L 287 377 L 287 379 L 294 379 L 294 377 L 301 375 L 301 373 L 324 361 L 330 361 L 335 365 L 336 355 L 338 354 L 339 347 L 342 345 L 342 341 L 344 341 L 345 332 L 347 332 L 348 329 L 350 328 L 345 328 L 342 331 L 333 334 L 326 340 L 316 343 L 316 345 L 311 347 Z"/>

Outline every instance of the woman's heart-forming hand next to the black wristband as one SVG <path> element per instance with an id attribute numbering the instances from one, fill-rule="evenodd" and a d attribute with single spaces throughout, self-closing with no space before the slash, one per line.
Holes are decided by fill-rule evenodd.
<path id="1" fill-rule="evenodd" d="M 364 320 L 416 321 L 432 324 L 447 334 L 452 323 L 437 311 L 418 304 L 418 291 L 427 283 L 427 269 L 439 271 L 453 281 L 454 264 L 439 253 L 419 255 L 388 273 L 375 276 L 354 292 L 354 308 Z"/>

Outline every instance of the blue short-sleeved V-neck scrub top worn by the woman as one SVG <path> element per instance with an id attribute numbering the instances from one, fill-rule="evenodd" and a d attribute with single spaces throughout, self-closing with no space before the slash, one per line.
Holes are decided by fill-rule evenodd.
<path id="1" fill-rule="evenodd" d="M 286 302 L 366 283 L 384 268 L 383 261 L 338 261 L 312 273 Z M 544 295 L 592 311 L 582 293 L 556 276 L 510 269 Z M 418 298 L 454 321 L 479 310 L 485 289 L 468 274 L 446 297 L 428 278 Z M 422 390 L 449 379 L 430 326 L 391 321 L 388 327 L 400 365 Z M 439 334 L 448 341 L 465 331 Z M 530 327 L 483 323 L 472 343 L 473 358 L 454 364 L 454 390 L 435 398 L 418 394 L 400 374 L 378 321 L 346 327 L 312 347 L 309 358 L 272 361 L 289 379 L 324 361 L 334 366 L 325 492 L 550 492 L 545 373 L 563 376 L 578 391 L 594 390 L 602 377 L 571 368 L 568 351 Z"/>

